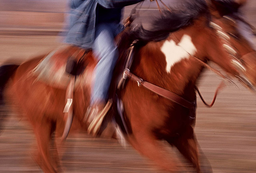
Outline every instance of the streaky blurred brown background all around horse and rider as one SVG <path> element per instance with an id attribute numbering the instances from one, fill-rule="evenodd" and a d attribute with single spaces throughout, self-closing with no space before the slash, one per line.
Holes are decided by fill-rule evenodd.
<path id="1" fill-rule="evenodd" d="M 177 1 L 177 0 L 176 0 Z M 175 0 L 165 0 L 175 6 Z M 125 17 L 133 6 L 125 8 Z M 147 20 L 156 10 L 155 2 L 143 4 L 141 16 Z M 151 9 L 151 10 L 147 10 Z M 256 2 L 248 0 L 242 12 L 256 26 Z M 62 45 L 69 14 L 65 0 L 0 0 L 0 63 L 23 62 Z M 254 38 L 256 46 L 256 39 Z M 198 87 L 210 102 L 221 79 L 206 70 Z M 8 110 L 5 129 L 0 134 L 1 173 L 40 173 L 32 155 L 36 151 L 30 125 Z M 200 147 L 214 173 L 256 172 L 256 95 L 244 87 L 226 87 L 214 107 L 198 99 L 195 128 Z M 123 149 L 117 141 L 94 139 L 71 133 L 62 154 L 66 173 L 160 173 L 132 147 Z M 183 161 L 178 154 L 180 161 Z"/>

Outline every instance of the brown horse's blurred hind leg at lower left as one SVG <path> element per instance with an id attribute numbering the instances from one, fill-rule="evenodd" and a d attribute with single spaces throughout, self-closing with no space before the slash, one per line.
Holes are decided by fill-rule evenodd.
<path id="1" fill-rule="evenodd" d="M 42 119 L 40 123 L 34 124 L 34 132 L 38 146 L 36 162 L 45 173 L 57 173 L 57 165 L 52 165 L 53 159 L 50 156 L 50 139 L 55 130 L 55 123 Z M 55 143 L 54 143 L 55 145 Z M 54 162 L 53 162 L 54 163 Z"/>

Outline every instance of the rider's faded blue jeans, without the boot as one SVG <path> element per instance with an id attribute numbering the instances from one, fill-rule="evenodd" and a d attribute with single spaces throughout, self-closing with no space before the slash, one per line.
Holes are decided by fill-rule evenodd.
<path id="1" fill-rule="evenodd" d="M 99 101 L 107 101 L 113 70 L 119 53 L 115 36 L 121 32 L 119 23 L 102 23 L 95 28 L 93 54 L 98 58 L 94 76 L 95 83 L 91 92 L 91 105 Z"/>

